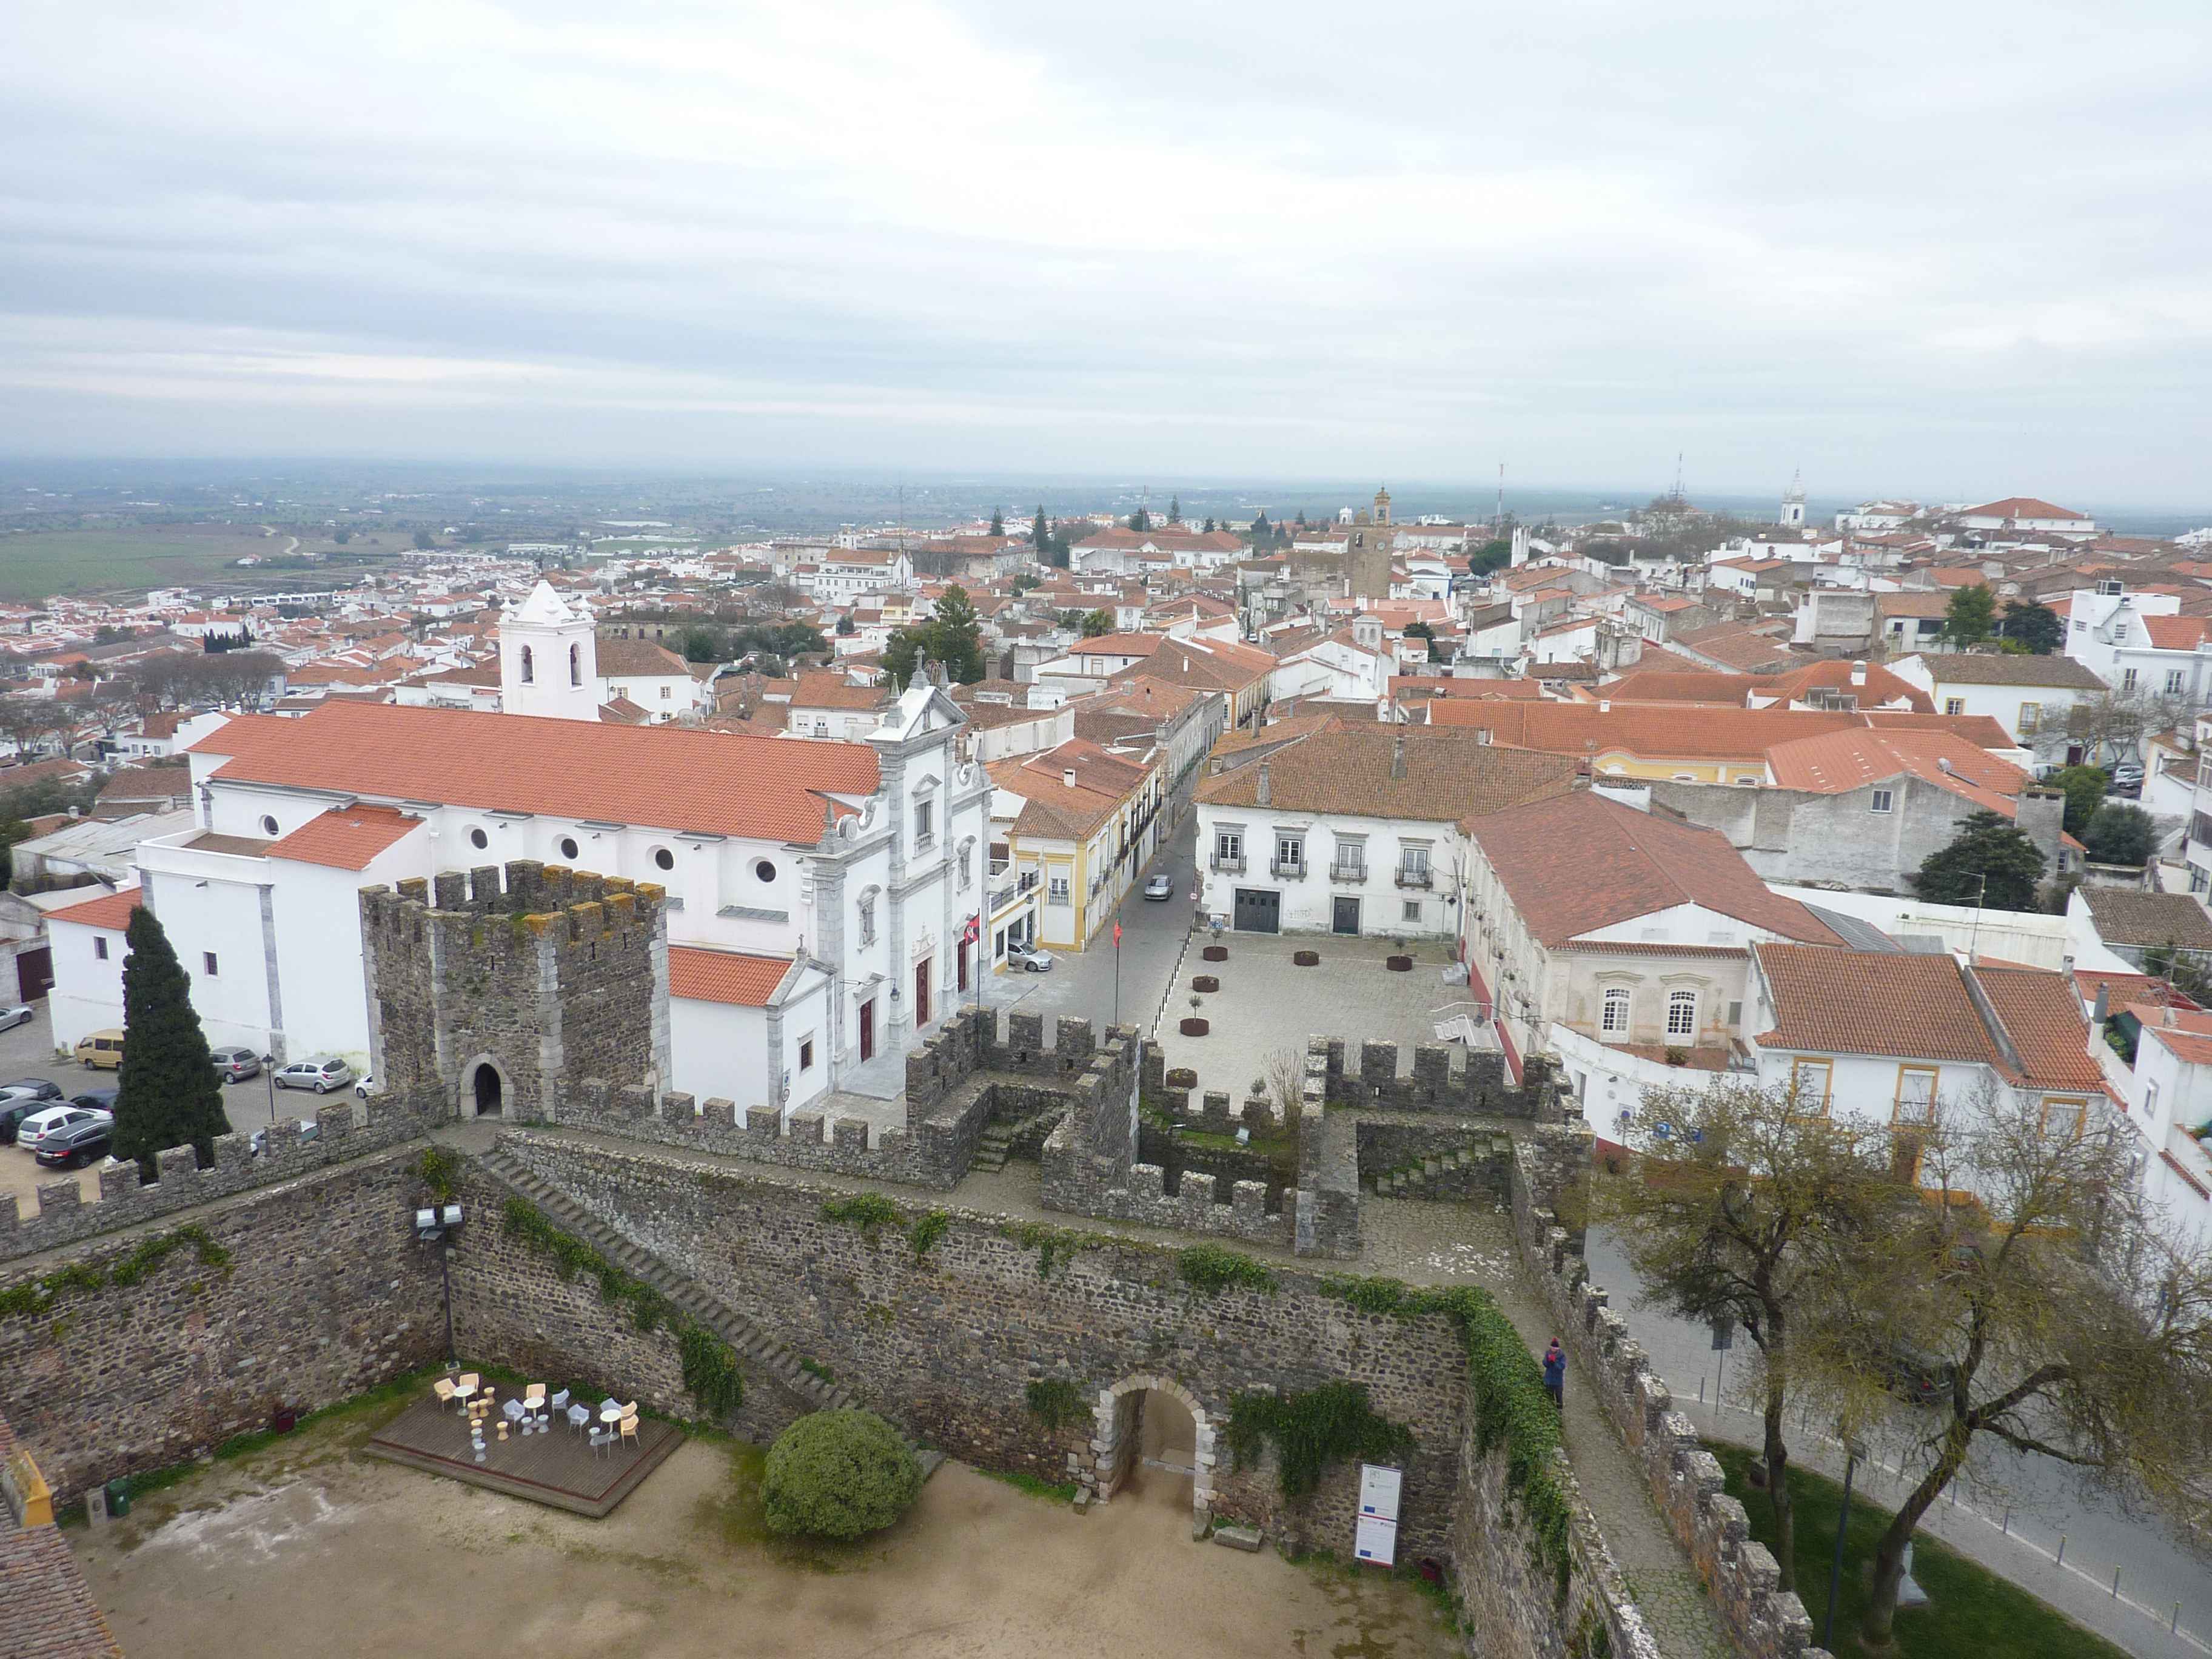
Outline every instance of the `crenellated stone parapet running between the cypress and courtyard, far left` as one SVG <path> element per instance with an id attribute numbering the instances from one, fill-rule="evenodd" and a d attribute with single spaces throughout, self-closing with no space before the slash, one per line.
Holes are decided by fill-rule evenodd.
<path id="1" fill-rule="evenodd" d="M 316 1139 L 303 1141 L 299 1121 L 270 1124 L 268 1150 L 254 1157 L 252 1135 L 232 1130 L 215 1137 L 215 1166 L 199 1168 L 190 1146 L 173 1146 L 157 1157 L 157 1179 L 139 1181 L 135 1161 L 100 1168 L 100 1197 L 86 1199 L 73 1175 L 38 1186 L 38 1212 L 20 1214 L 13 1192 L 0 1194 L 0 1261 L 55 1250 L 117 1228 L 195 1210 L 257 1186 L 290 1181 L 310 1170 L 378 1152 L 422 1133 L 422 1119 L 383 1097 L 367 1104 L 330 1099 L 319 1104 Z"/>

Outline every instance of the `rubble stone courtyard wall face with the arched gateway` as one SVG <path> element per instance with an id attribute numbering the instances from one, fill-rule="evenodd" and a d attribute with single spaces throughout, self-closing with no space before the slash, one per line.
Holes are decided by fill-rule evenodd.
<path id="1" fill-rule="evenodd" d="M 1464 1354 L 1442 1316 L 1363 1314 L 1296 1270 L 1276 1274 L 1274 1294 L 1206 1294 L 1179 1279 L 1172 1248 L 1060 1230 L 1031 1232 L 1024 1243 L 1020 1223 L 964 1210 L 949 1212 L 947 1232 L 916 1261 L 898 1228 L 869 1239 L 825 1221 L 823 1201 L 845 1197 L 838 1190 L 531 1130 L 502 1135 L 500 1150 L 827 1365 L 918 1442 L 987 1469 L 1053 1482 L 1095 1473 L 1093 1413 L 1046 1429 L 1029 1409 L 1031 1383 L 1066 1380 L 1091 1402 L 1130 1376 L 1166 1376 L 1214 1427 L 1245 1389 L 1365 1383 L 1374 1407 L 1416 1436 L 1405 1471 L 1405 1551 L 1444 1557 Z M 1057 1234 L 1048 1274 L 1044 1234 Z M 456 1256 L 456 1283 L 460 1263 Z M 484 1294 L 533 1310 L 520 1285 Z M 1234 1469 L 1225 1449 L 1201 1451 L 1201 1464 L 1221 1520 L 1349 1555 L 1356 1471 L 1332 1471 L 1321 1493 L 1292 1504 L 1272 1453 Z"/>

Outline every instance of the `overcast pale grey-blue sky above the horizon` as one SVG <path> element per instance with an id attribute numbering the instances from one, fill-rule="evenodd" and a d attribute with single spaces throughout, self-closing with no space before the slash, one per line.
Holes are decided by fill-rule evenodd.
<path id="1" fill-rule="evenodd" d="M 13 0 L 0 451 L 2197 504 L 2208 42 L 2205 0 Z"/>

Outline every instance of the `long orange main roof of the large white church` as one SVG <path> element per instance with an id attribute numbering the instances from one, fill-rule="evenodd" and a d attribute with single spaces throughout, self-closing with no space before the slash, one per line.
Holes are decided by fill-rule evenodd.
<path id="1" fill-rule="evenodd" d="M 860 743 L 458 708 L 250 714 L 192 752 L 230 757 L 223 781 L 805 843 L 821 838 L 825 794 L 876 790 L 876 752 Z"/>

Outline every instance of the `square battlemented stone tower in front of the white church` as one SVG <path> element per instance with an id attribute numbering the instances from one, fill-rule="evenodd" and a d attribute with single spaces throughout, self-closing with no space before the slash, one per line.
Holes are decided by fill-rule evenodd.
<path id="1" fill-rule="evenodd" d="M 659 887 L 531 858 L 365 889 L 378 1086 L 469 1110 L 489 1057 L 502 1115 L 551 1121 L 584 1077 L 666 1075 L 666 929 Z"/>

